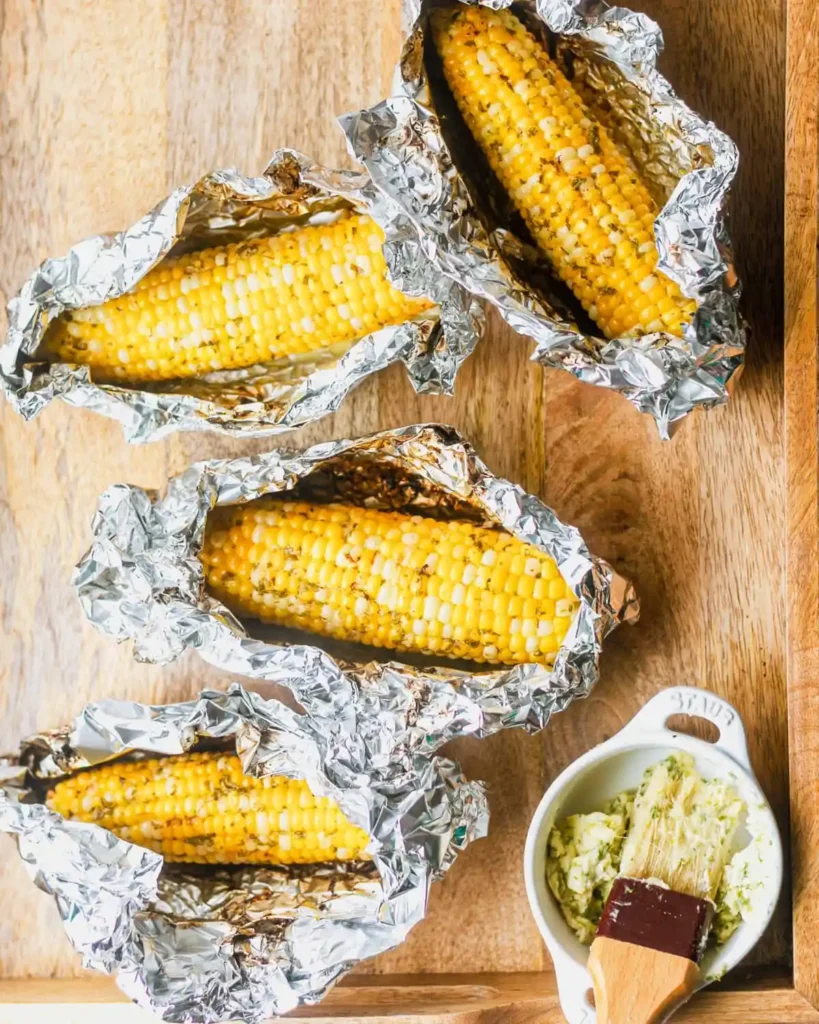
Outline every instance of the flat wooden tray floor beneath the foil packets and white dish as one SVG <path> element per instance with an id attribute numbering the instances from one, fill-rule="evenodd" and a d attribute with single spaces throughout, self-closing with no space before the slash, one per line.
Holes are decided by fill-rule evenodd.
<path id="1" fill-rule="evenodd" d="M 452 423 L 495 472 L 579 526 L 643 601 L 642 623 L 608 645 L 593 696 L 543 735 L 452 744 L 488 782 L 491 837 L 435 887 L 410 940 L 365 972 L 544 970 L 520 869 L 533 809 L 563 767 L 661 687 L 707 686 L 739 708 L 786 824 L 783 10 L 780 0 L 636 6 L 665 30 L 662 67 L 679 91 L 743 155 L 732 232 L 753 339 L 736 399 L 663 443 L 618 396 L 531 365 L 530 343 L 490 316 L 455 399 L 416 397 L 396 368 L 287 439 Z M 45 256 L 128 224 L 214 167 L 258 172 L 285 144 L 346 163 L 333 116 L 384 94 L 398 44 L 398 0 L 3 0 L 3 297 Z M 192 459 L 269 446 L 186 435 L 134 447 L 116 423 L 59 403 L 30 424 L 0 407 L 0 749 L 89 698 L 178 700 L 225 682 L 192 654 L 136 665 L 85 623 L 70 570 L 109 484 L 160 486 Z M 77 973 L 51 898 L 11 854 L 0 837 L 0 978 Z M 783 909 L 757 962 L 787 963 L 788 928 Z"/>

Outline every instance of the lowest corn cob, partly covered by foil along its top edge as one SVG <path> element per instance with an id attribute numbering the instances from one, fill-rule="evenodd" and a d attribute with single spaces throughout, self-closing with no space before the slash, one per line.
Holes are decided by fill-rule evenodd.
<path id="1" fill-rule="evenodd" d="M 66 818 L 192 864 L 312 864 L 365 858 L 369 837 L 303 779 L 252 778 L 230 754 L 118 761 L 48 795 Z"/>

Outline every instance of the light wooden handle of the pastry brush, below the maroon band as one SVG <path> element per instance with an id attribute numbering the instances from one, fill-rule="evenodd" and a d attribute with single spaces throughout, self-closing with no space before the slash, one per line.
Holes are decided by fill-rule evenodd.
<path id="1" fill-rule="evenodd" d="M 597 1024 L 657 1024 L 696 988 L 699 968 L 685 956 L 598 937 L 589 953 Z"/>

